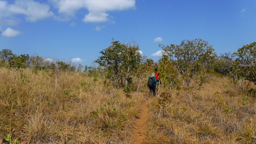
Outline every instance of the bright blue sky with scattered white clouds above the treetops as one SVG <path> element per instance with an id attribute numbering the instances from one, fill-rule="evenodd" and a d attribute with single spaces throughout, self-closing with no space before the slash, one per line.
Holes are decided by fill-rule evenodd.
<path id="1" fill-rule="evenodd" d="M 256 41 L 256 0 L 0 0 L 0 29 L 0 49 L 83 65 L 112 38 L 135 41 L 155 61 L 159 44 L 183 39 L 202 38 L 219 54 Z"/>

